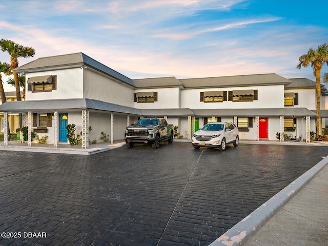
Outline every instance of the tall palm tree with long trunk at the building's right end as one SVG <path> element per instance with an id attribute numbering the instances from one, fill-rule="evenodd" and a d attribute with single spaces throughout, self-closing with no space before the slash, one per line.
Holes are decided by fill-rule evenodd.
<path id="1" fill-rule="evenodd" d="M 310 48 L 308 53 L 299 57 L 298 69 L 306 68 L 311 64 L 313 74 L 316 77 L 316 108 L 317 108 L 317 122 L 316 122 L 316 135 L 320 135 L 321 119 L 320 119 L 320 99 L 321 99 L 321 82 L 320 71 L 323 64 L 328 65 L 328 44 L 324 43 L 314 50 Z"/>

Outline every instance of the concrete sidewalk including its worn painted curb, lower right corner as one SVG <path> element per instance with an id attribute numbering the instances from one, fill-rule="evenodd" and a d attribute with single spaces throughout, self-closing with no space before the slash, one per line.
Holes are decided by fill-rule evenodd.
<path id="1" fill-rule="evenodd" d="M 328 157 L 210 246 L 328 245 Z"/>

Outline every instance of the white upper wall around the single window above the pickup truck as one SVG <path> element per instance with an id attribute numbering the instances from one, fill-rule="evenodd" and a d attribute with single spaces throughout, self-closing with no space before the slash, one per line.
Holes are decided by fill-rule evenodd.
<path id="1" fill-rule="evenodd" d="M 138 109 L 172 109 L 179 108 L 179 88 L 137 89 L 134 92 L 157 92 L 157 101 L 154 103 L 134 103 Z"/>

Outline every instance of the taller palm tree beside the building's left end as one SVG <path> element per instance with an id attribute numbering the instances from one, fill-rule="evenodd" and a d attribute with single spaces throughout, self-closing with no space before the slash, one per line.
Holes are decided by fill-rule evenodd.
<path id="1" fill-rule="evenodd" d="M 18 58 L 19 57 L 33 57 L 35 55 L 35 50 L 32 47 L 25 47 L 19 44 L 16 44 L 15 42 L 9 40 L 9 39 L 1 39 L 0 40 L 0 46 L 1 50 L 8 52 L 10 55 L 10 64 L 11 69 L 14 70 L 18 67 Z M 22 100 L 20 98 L 20 91 L 19 91 L 19 82 L 18 82 L 18 74 L 13 71 L 14 80 L 15 80 L 15 88 L 16 88 L 16 98 L 17 101 Z"/>

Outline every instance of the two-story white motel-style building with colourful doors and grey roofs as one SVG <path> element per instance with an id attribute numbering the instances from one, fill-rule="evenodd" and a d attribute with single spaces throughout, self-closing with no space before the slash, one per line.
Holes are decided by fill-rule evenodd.
<path id="1" fill-rule="evenodd" d="M 273 73 L 132 80 L 83 53 L 38 58 L 15 71 L 26 75 L 26 101 L 7 102 L 0 111 L 4 124 L 8 115 L 23 113 L 28 146 L 32 131 L 48 135 L 54 147 L 67 143 L 67 124 L 82 133 L 82 148 L 89 147 L 88 139 L 99 140 L 100 132 L 113 142 L 145 116 L 167 118 L 188 139 L 210 121 L 234 122 L 240 139 L 278 140 L 278 132 L 281 141 L 283 133 L 310 141 L 315 130 L 315 82 L 306 78 Z"/>

